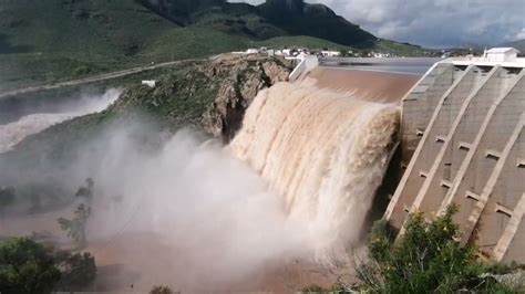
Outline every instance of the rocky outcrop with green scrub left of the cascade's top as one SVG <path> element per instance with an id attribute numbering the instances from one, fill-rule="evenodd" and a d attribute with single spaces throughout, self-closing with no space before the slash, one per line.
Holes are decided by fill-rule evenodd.
<path id="1" fill-rule="evenodd" d="M 157 86 L 128 88 L 109 112 L 141 111 L 168 129 L 193 126 L 228 141 L 257 93 L 286 81 L 292 64 L 260 55 L 222 55 L 158 77 Z"/>

